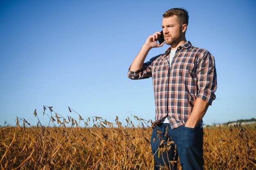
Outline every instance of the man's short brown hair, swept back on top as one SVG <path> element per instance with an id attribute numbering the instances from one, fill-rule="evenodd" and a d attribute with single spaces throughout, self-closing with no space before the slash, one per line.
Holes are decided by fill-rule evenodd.
<path id="1" fill-rule="evenodd" d="M 169 9 L 163 14 L 164 18 L 176 15 L 181 24 L 189 24 L 189 14 L 184 8 L 173 8 Z"/>

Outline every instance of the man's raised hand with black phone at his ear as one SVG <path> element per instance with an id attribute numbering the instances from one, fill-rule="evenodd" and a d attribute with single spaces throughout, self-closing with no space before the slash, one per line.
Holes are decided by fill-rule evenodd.
<path id="1" fill-rule="evenodd" d="M 159 41 L 159 44 L 157 43 Z M 156 32 L 153 35 L 150 35 L 145 42 L 146 45 L 150 46 L 150 48 L 157 48 L 164 45 L 164 34 L 163 31 Z"/>

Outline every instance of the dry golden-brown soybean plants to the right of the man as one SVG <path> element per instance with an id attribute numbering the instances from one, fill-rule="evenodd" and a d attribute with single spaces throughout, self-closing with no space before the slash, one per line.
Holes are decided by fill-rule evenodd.
<path id="1" fill-rule="evenodd" d="M 256 169 L 256 130 L 229 121 L 229 129 L 204 130 L 206 170 Z M 214 161 L 213 161 L 214 160 Z"/>

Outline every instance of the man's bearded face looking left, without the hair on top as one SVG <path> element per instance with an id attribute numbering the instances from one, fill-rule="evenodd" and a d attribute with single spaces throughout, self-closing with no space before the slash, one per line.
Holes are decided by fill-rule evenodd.
<path id="1" fill-rule="evenodd" d="M 166 44 L 179 44 L 182 38 L 182 25 L 180 24 L 176 15 L 163 18 L 162 29 Z"/>

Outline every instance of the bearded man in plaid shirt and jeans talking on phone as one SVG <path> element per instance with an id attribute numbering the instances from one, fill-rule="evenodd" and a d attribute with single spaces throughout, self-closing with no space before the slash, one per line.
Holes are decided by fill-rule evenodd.
<path id="1" fill-rule="evenodd" d="M 128 71 L 130 79 L 153 79 L 155 170 L 176 169 L 177 156 L 183 170 L 203 169 L 202 117 L 216 97 L 217 75 L 213 56 L 186 41 L 188 22 L 185 9 L 166 11 L 162 29 L 165 43 L 171 46 L 144 63 L 150 49 L 164 45 L 157 43 L 160 32 L 150 35 Z"/>

